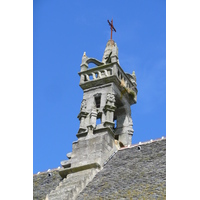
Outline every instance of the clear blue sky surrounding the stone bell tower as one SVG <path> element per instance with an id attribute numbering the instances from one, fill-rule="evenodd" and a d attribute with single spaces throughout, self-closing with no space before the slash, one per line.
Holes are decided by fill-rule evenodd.
<path id="1" fill-rule="evenodd" d="M 33 1 L 33 173 L 72 151 L 83 52 L 102 59 L 113 18 L 119 62 L 135 71 L 132 143 L 166 136 L 166 1 Z"/>

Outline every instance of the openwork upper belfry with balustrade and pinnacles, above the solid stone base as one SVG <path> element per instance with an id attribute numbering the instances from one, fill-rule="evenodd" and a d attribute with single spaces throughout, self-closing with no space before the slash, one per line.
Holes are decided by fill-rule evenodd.
<path id="1" fill-rule="evenodd" d="M 89 63 L 97 66 L 89 69 Z M 84 94 L 78 115 L 78 139 L 108 128 L 121 144 L 130 145 L 133 135 L 130 106 L 137 101 L 137 84 L 135 73 L 125 73 L 119 65 L 117 44 L 113 40 L 107 42 L 101 62 L 84 52 L 79 76 Z"/>

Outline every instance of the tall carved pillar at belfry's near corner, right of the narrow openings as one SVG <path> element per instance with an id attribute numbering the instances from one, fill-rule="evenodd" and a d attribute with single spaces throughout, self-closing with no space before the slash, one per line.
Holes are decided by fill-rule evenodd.
<path id="1" fill-rule="evenodd" d="M 106 105 L 104 107 L 104 111 L 106 113 L 106 120 L 104 122 L 105 127 L 113 128 L 115 123 L 114 121 L 114 112 L 115 112 L 115 95 L 108 93 L 106 99 Z"/>

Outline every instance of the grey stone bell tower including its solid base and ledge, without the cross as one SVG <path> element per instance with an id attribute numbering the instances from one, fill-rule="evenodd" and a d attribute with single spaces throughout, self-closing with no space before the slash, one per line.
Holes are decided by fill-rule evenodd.
<path id="1" fill-rule="evenodd" d="M 96 66 L 88 68 L 89 63 Z M 102 61 L 84 52 L 80 67 L 79 85 L 84 93 L 78 140 L 67 154 L 69 160 L 61 162 L 63 177 L 83 169 L 100 169 L 120 146 L 131 145 L 133 135 L 130 106 L 137 101 L 136 76 L 120 67 L 117 44 L 107 42 Z"/>

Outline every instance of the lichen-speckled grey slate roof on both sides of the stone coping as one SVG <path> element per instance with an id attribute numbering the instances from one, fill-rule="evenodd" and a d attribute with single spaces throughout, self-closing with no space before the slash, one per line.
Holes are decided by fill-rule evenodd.
<path id="1" fill-rule="evenodd" d="M 34 197 L 43 199 L 62 179 L 58 170 L 34 175 Z M 166 199 L 166 139 L 120 149 L 78 195 L 91 199 Z"/>

